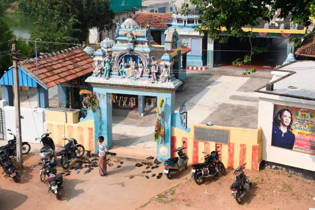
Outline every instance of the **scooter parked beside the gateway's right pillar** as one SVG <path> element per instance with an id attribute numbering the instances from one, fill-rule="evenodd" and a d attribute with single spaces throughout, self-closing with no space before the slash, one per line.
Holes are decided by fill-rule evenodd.
<path id="1" fill-rule="evenodd" d="M 178 157 L 173 157 L 164 160 L 164 174 L 168 179 L 171 179 L 176 172 L 182 171 L 183 169 L 187 169 L 187 163 L 189 158 L 187 154 L 183 152 L 183 150 L 187 148 L 184 147 L 184 144 L 185 141 L 183 141 L 183 146 L 176 148 L 174 151 L 177 152 Z M 174 147 L 172 146 L 172 148 Z"/>

